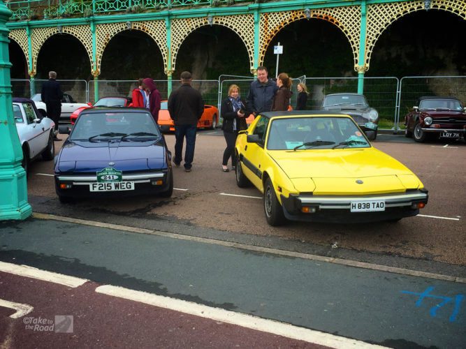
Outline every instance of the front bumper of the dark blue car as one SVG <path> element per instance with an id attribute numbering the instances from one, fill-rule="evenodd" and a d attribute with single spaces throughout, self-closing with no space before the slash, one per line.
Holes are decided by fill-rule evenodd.
<path id="1" fill-rule="evenodd" d="M 162 180 L 162 184 L 152 184 L 157 180 Z M 66 198 L 108 198 L 163 193 L 164 191 L 168 191 L 170 187 L 170 170 L 168 172 L 157 171 L 123 174 L 122 181 L 133 181 L 134 190 L 90 191 L 89 186 L 92 183 L 97 183 L 95 174 L 55 174 L 55 192 L 57 195 Z M 60 184 L 68 184 L 71 187 L 60 188 Z"/>

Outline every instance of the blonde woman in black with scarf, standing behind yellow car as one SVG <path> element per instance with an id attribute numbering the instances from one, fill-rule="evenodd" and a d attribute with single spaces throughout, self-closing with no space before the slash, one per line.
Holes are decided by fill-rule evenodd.
<path id="1" fill-rule="evenodd" d="M 235 170 L 235 142 L 238 131 L 247 128 L 245 119 L 245 105 L 240 98 L 240 88 L 233 84 L 228 88 L 228 97 L 221 101 L 221 117 L 224 119 L 221 129 L 224 130 L 226 149 L 221 163 L 221 170 L 228 172 L 228 159 L 231 157 L 231 170 Z"/>

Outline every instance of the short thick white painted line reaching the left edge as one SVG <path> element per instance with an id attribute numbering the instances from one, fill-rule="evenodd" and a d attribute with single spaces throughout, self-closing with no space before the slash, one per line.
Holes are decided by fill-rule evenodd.
<path id="1" fill-rule="evenodd" d="M 0 272 L 25 276 L 27 278 L 38 279 L 42 281 L 50 281 L 52 283 L 59 283 L 68 287 L 78 287 L 86 283 L 87 279 L 76 278 L 75 276 L 68 276 L 54 272 L 46 272 L 45 270 L 36 269 L 27 265 L 15 265 L 6 262 L 0 262 Z"/>

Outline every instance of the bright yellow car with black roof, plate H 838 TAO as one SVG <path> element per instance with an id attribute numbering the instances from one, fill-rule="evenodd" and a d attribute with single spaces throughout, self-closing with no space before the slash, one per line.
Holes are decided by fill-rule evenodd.
<path id="1" fill-rule="evenodd" d="M 418 177 L 372 147 L 348 115 L 266 112 L 240 131 L 235 155 L 236 183 L 263 193 L 270 225 L 399 221 L 428 202 Z"/>

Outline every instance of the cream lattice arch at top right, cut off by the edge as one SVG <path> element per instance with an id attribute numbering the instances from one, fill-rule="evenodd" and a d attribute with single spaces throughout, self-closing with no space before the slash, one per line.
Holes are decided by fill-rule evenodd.
<path id="1" fill-rule="evenodd" d="M 466 20 L 466 1 L 433 0 L 430 9 L 445 10 Z M 377 3 L 367 6 L 367 40 L 365 47 L 365 70 L 369 69 L 370 57 L 375 43 L 385 29 L 400 17 L 418 10 L 425 10 L 424 1 Z"/>

